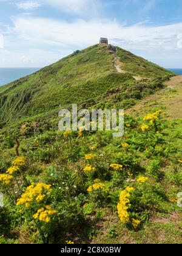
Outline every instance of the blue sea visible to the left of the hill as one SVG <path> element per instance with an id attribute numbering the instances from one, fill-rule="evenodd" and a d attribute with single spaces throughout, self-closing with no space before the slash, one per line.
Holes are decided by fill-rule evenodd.
<path id="1" fill-rule="evenodd" d="M 33 74 L 39 69 L 40 68 L 0 68 L 0 86 Z"/>

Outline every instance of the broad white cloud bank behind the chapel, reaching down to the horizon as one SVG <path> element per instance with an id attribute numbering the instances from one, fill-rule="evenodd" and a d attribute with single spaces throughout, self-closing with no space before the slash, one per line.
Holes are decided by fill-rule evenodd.
<path id="1" fill-rule="evenodd" d="M 12 21 L 13 26 L 4 35 L 9 49 L 14 52 L 21 49 L 19 57 L 15 58 L 20 66 L 24 63 L 27 66 L 47 65 L 76 49 L 98 43 L 99 37 L 108 37 L 109 43 L 163 66 L 175 68 L 181 63 L 182 49 L 177 47 L 180 39 L 177 35 L 181 34 L 182 23 L 126 26 L 115 20 L 75 20 L 69 23 L 29 15 L 14 17 Z"/>

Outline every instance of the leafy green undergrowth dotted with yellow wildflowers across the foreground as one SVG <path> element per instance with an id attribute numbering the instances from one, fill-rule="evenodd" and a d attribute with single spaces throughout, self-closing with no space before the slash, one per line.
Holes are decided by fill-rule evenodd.
<path id="1" fill-rule="evenodd" d="M 170 133 L 164 115 L 162 110 L 141 118 L 126 114 L 120 139 L 110 132 L 51 130 L 22 139 L 21 157 L 6 149 L 1 243 L 89 243 L 101 235 L 98 224 L 113 218 L 105 243 L 121 242 L 118 232 L 126 229 L 142 240 L 154 216 L 180 215 L 181 135 Z M 169 227 L 159 221 L 153 229 L 157 224 Z M 169 232 L 164 243 L 181 242 L 178 224 Z"/>

